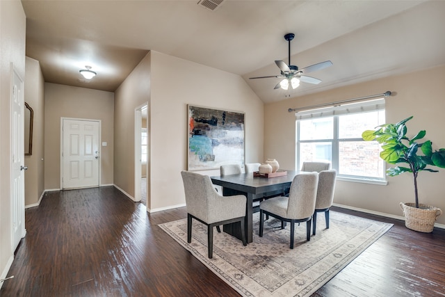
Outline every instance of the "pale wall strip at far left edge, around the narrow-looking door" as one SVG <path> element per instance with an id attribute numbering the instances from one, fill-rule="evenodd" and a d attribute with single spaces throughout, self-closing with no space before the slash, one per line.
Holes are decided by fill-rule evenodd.
<path id="1" fill-rule="evenodd" d="M 26 17 L 20 1 L 0 1 L 0 278 L 13 262 L 11 226 L 11 63 L 25 79 Z M 0 287 L 3 283 L 0 284 Z"/>

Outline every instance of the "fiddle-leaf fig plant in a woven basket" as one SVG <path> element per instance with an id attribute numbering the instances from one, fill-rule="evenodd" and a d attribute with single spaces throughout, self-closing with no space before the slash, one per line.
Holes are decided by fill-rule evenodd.
<path id="1" fill-rule="evenodd" d="M 431 141 L 418 143 L 426 135 L 426 131 L 419 131 L 411 139 L 407 137 L 406 122 L 413 117 L 406 118 L 396 124 L 385 124 L 366 130 L 362 134 L 364 141 L 377 141 L 382 147 L 380 158 L 390 164 L 404 163 L 406 166 L 396 166 L 387 169 L 387 175 L 394 177 L 404 172 L 411 172 L 414 182 L 415 203 L 401 202 L 405 215 L 405 226 L 419 232 L 432 232 L 434 222 L 442 214 L 442 210 L 427 204 L 419 204 L 417 193 L 417 175 L 421 171 L 438 172 L 427 168 L 437 166 L 445 168 L 445 149 L 432 150 Z M 420 149 L 420 150 L 419 150 Z"/>

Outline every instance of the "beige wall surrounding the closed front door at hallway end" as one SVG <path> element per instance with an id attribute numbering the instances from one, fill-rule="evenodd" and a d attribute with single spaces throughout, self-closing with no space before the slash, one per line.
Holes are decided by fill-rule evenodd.
<path id="1" fill-rule="evenodd" d="M 114 93 L 58 83 L 45 83 L 44 99 L 44 188 L 60 188 L 60 118 L 101 121 L 101 179 L 99 185 L 113 184 Z"/>

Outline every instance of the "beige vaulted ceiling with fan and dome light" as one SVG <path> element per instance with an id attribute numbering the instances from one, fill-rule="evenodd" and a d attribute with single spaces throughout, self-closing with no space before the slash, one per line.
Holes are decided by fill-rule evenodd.
<path id="1" fill-rule="evenodd" d="M 202 0 L 208 1 L 208 0 Z M 215 1 L 215 0 L 211 0 Z M 149 50 L 241 75 L 264 101 L 275 102 L 445 64 L 445 1 L 22 0 L 26 56 L 51 83 L 114 91 Z M 275 60 L 312 72 L 318 85 L 273 90 Z M 92 66 L 86 81 L 79 70 Z"/>

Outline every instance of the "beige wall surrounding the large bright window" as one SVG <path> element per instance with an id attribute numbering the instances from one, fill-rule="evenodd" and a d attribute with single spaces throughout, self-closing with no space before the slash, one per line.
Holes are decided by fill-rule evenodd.
<path id="1" fill-rule="evenodd" d="M 387 99 L 387 122 L 398 122 L 414 115 L 407 123 L 409 134 L 414 136 L 418 131 L 425 129 L 426 140 L 432 141 L 433 149 L 445 147 L 444 81 L 445 66 L 442 66 L 266 104 L 264 117 L 275 120 L 265 128 L 264 152 L 267 156 L 277 158 L 280 165 L 286 163 L 296 168 L 296 119 L 294 113 L 288 112 L 289 108 L 364 97 L 385 93 L 387 90 L 395 94 Z M 420 172 L 419 202 L 434 205 L 445 211 L 444 179 L 445 170 L 436 173 Z M 388 182 L 387 186 L 378 186 L 339 181 L 334 203 L 403 216 L 399 202 L 414 202 L 412 175 L 388 177 Z M 437 223 L 445 224 L 445 215 L 440 216 Z"/>

